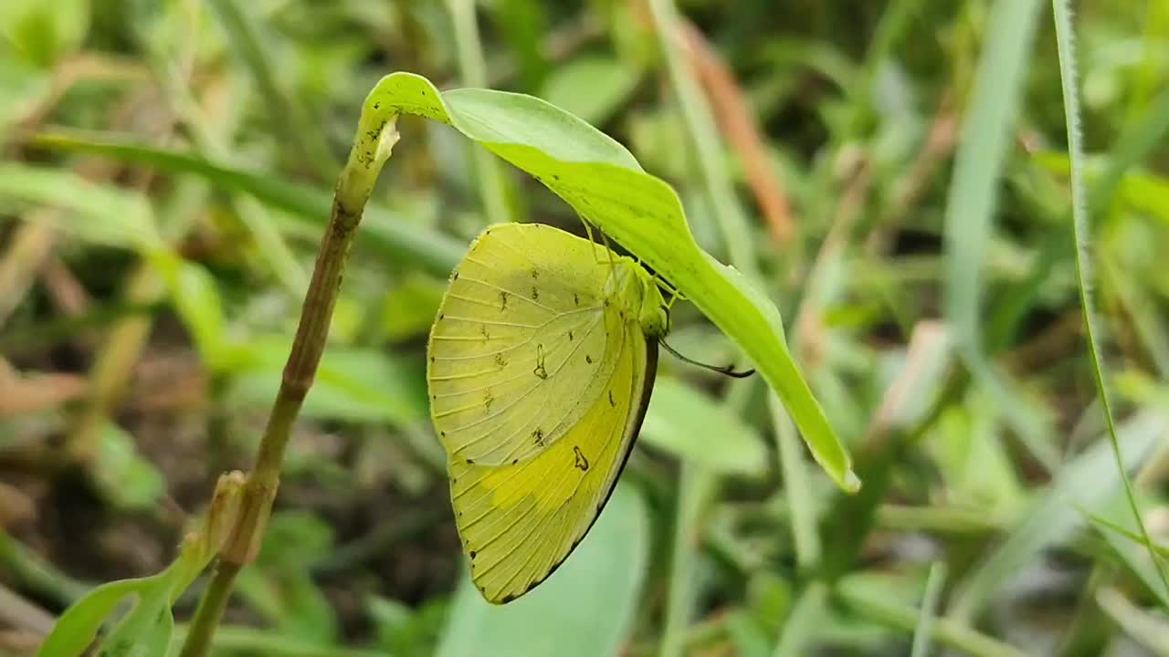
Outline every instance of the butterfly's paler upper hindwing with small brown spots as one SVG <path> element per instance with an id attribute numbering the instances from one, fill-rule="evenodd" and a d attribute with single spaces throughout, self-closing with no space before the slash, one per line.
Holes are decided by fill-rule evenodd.
<path id="1" fill-rule="evenodd" d="M 603 354 L 623 330 L 606 312 L 615 269 L 602 257 L 601 247 L 540 224 L 493 226 L 471 245 L 428 347 L 431 417 L 452 459 L 531 458 L 601 396 L 615 366 Z"/>

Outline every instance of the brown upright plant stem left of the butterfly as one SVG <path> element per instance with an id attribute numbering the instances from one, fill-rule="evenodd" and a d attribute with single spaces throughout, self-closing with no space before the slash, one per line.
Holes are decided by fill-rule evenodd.
<path id="1" fill-rule="evenodd" d="M 386 116 L 376 103 L 362 108 L 350 159 L 337 181 L 337 192 L 317 264 L 309 282 L 300 323 L 292 351 L 284 366 L 276 402 L 260 441 L 255 464 L 248 475 L 238 513 L 220 548 L 215 574 L 199 603 L 181 657 L 202 657 L 212 644 L 215 627 L 223 616 L 236 575 L 251 562 L 260 548 L 268 516 L 279 486 L 281 462 L 292 434 L 292 426 L 317 374 L 325 351 L 328 326 L 337 305 L 350 249 L 357 236 L 369 192 L 393 145 L 397 141 L 396 116 Z"/>

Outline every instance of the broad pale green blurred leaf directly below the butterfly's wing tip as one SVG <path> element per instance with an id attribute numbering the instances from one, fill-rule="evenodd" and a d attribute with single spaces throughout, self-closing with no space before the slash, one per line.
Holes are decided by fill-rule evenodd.
<path id="1" fill-rule="evenodd" d="M 649 531 L 641 495 L 618 485 L 572 559 L 519 600 L 490 604 L 464 575 L 437 653 L 620 653 L 634 628 L 649 566 Z"/>

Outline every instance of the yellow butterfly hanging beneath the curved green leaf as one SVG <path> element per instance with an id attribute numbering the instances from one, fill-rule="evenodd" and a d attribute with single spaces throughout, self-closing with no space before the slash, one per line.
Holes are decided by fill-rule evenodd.
<path id="1" fill-rule="evenodd" d="M 492 226 L 455 269 L 427 383 L 489 602 L 542 582 L 601 513 L 645 417 L 667 312 L 637 262 L 548 226 Z"/>

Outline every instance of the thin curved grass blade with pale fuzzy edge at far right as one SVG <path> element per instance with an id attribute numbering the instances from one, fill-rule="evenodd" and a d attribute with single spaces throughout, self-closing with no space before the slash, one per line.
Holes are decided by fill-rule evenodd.
<path id="1" fill-rule="evenodd" d="M 1092 376 L 1095 379 L 1097 394 L 1100 399 L 1100 407 L 1104 412 L 1105 423 L 1108 428 L 1108 441 L 1112 444 L 1113 456 L 1116 459 L 1116 470 L 1120 482 L 1125 487 L 1125 497 L 1128 506 L 1136 520 L 1136 526 L 1144 539 L 1144 546 L 1149 551 L 1149 558 L 1157 569 L 1161 583 L 1165 592 L 1169 592 L 1169 574 L 1165 566 L 1157 558 L 1153 548 L 1153 539 L 1149 530 L 1144 526 L 1141 510 L 1136 504 L 1136 495 L 1133 492 L 1133 483 L 1128 478 L 1125 468 L 1125 457 L 1120 449 L 1120 438 L 1116 436 L 1116 422 L 1112 414 L 1112 401 L 1108 395 L 1108 386 L 1104 376 L 1104 354 L 1097 338 L 1095 314 L 1092 306 L 1091 293 L 1091 261 L 1088 249 L 1091 248 L 1091 227 L 1087 207 L 1087 188 L 1084 186 L 1084 144 L 1080 132 L 1080 106 L 1075 82 L 1075 50 L 1074 32 L 1072 27 L 1072 9 L 1067 0 L 1052 0 L 1056 19 L 1056 44 L 1059 51 L 1059 78 L 1064 94 L 1064 118 L 1067 123 L 1067 146 L 1071 158 L 1071 182 L 1072 182 L 1072 228 L 1075 240 L 1075 278 L 1080 293 L 1080 309 L 1084 313 L 1084 332 L 1088 347 L 1088 358 L 1092 361 Z"/>

